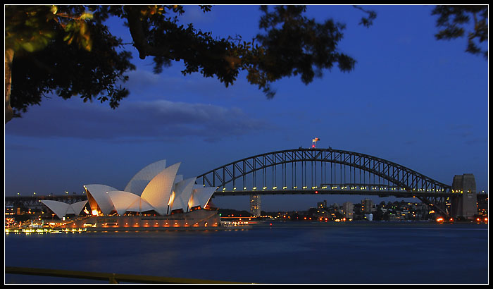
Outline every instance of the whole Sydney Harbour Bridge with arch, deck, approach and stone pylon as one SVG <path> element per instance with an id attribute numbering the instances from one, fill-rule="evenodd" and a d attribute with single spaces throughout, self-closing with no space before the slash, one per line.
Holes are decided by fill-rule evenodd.
<path id="1" fill-rule="evenodd" d="M 452 178 L 452 177 L 451 177 Z M 451 185 L 376 156 L 332 148 L 268 152 L 233 161 L 197 176 L 196 183 L 218 187 L 214 196 L 233 195 L 377 195 L 417 198 L 447 217 L 477 214 L 472 174 L 453 177 Z M 6 197 L 6 205 L 58 199 L 77 202 L 85 195 Z"/>

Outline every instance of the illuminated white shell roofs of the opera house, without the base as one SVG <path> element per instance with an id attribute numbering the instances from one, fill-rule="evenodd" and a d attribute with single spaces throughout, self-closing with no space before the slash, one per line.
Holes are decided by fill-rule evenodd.
<path id="1" fill-rule="evenodd" d="M 101 184 L 84 185 L 89 205 L 93 211 L 99 208 L 104 215 L 112 211 L 123 215 L 126 211 L 151 210 L 166 215 L 176 209 L 187 212 L 194 207 L 206 207 L 217 187 L 196 185 L 196 178 L 184 180 L 177 175 L 178 168 L 180 163 L 166 167 L 166 159 L 156 161 L 137 172 L 124 190 Z M 76 203 L 77 206 L 56 201 L 43 204 L 61 218 L 65 214 L 80 214 L 86 202 Z"/>

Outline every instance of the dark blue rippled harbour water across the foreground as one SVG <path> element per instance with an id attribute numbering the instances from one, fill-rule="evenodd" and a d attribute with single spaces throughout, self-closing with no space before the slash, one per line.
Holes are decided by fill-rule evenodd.
<path id="1" fill-rule="evenodd" d="M 486 284 L 488 226 L 263 223 L 249 229 L 6 234 L 5 266 L 283 284 Z M 5 283 L 98 283 L 6 274 Z M 107 282 L 101 282 L 107 283 Z"/>

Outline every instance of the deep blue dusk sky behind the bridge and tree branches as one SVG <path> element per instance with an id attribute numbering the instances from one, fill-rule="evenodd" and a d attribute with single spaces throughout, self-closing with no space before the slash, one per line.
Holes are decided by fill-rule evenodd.
<path id="1" fill-rule="evenodd" d="M 218 37 L 258 32 L 258 6 L 187 6 L 183 23 Z M 433 6 L 366 6 L 374 24 L 358 25 L 352 6 L 308 6 L 308 16 L 346 23 L 339 50 L 356 59 L 304 85 L 297 77 L 273 83 L 266 99 L 244 74 L 225 87 L 182 63 L 152 73 L 140 60 L 116 110 L 107 103 L 43 99 L 5 125 L 7 196 L 81 193 L 101 183 L 123 190 L 137 171 L 160 159 L 182 162 L 186 178 L 248 156 L 282 149 L 332 147 L 394 161 L 442 183 L 473 173 L 488 185 L 488 61 L 465 52 L 466 39 L 438 41 Z M 123 27 L 114 33 L 130 42 Z M 118 32 L 117 32 L 118 31 Z M 265 196 L 263 210 L 304 210 L 316 202 L 360 202 L 366 196 Z M 382 199 L 373 197 L 375 202 Z M 216 197 L 218 207 L 248 209 L 248 197 Z"/>

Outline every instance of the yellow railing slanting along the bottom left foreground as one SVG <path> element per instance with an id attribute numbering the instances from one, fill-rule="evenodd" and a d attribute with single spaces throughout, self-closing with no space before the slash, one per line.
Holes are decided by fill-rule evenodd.
<path id="1" fill-rule="evenodd" d="M 39 269 L 39 268 L 25 268 L 25 267 L 14 267 L 14 266 L 6 266 L 5 273 L 35 275 L 35 276 L 50 276 L 50 277 L 60 277 L 60 278 L 78 278 L 78 279 L 87 279 L 87 280 L 102 280 L 102 281 L 106 280 L 111 284 L 118 284 L 120 282 L 143 283 L 143 284 L 245 284 L 238 282 L 213 281 L 213 280 L 190 279 L 190 278 L 172 278 L 172 277 L 130 275 L 130 274 L 118 274 L 118 273 L 98 273 L 98 272 L 71 271 L 71 270 L 58 270 L 58 269 Z"/>

